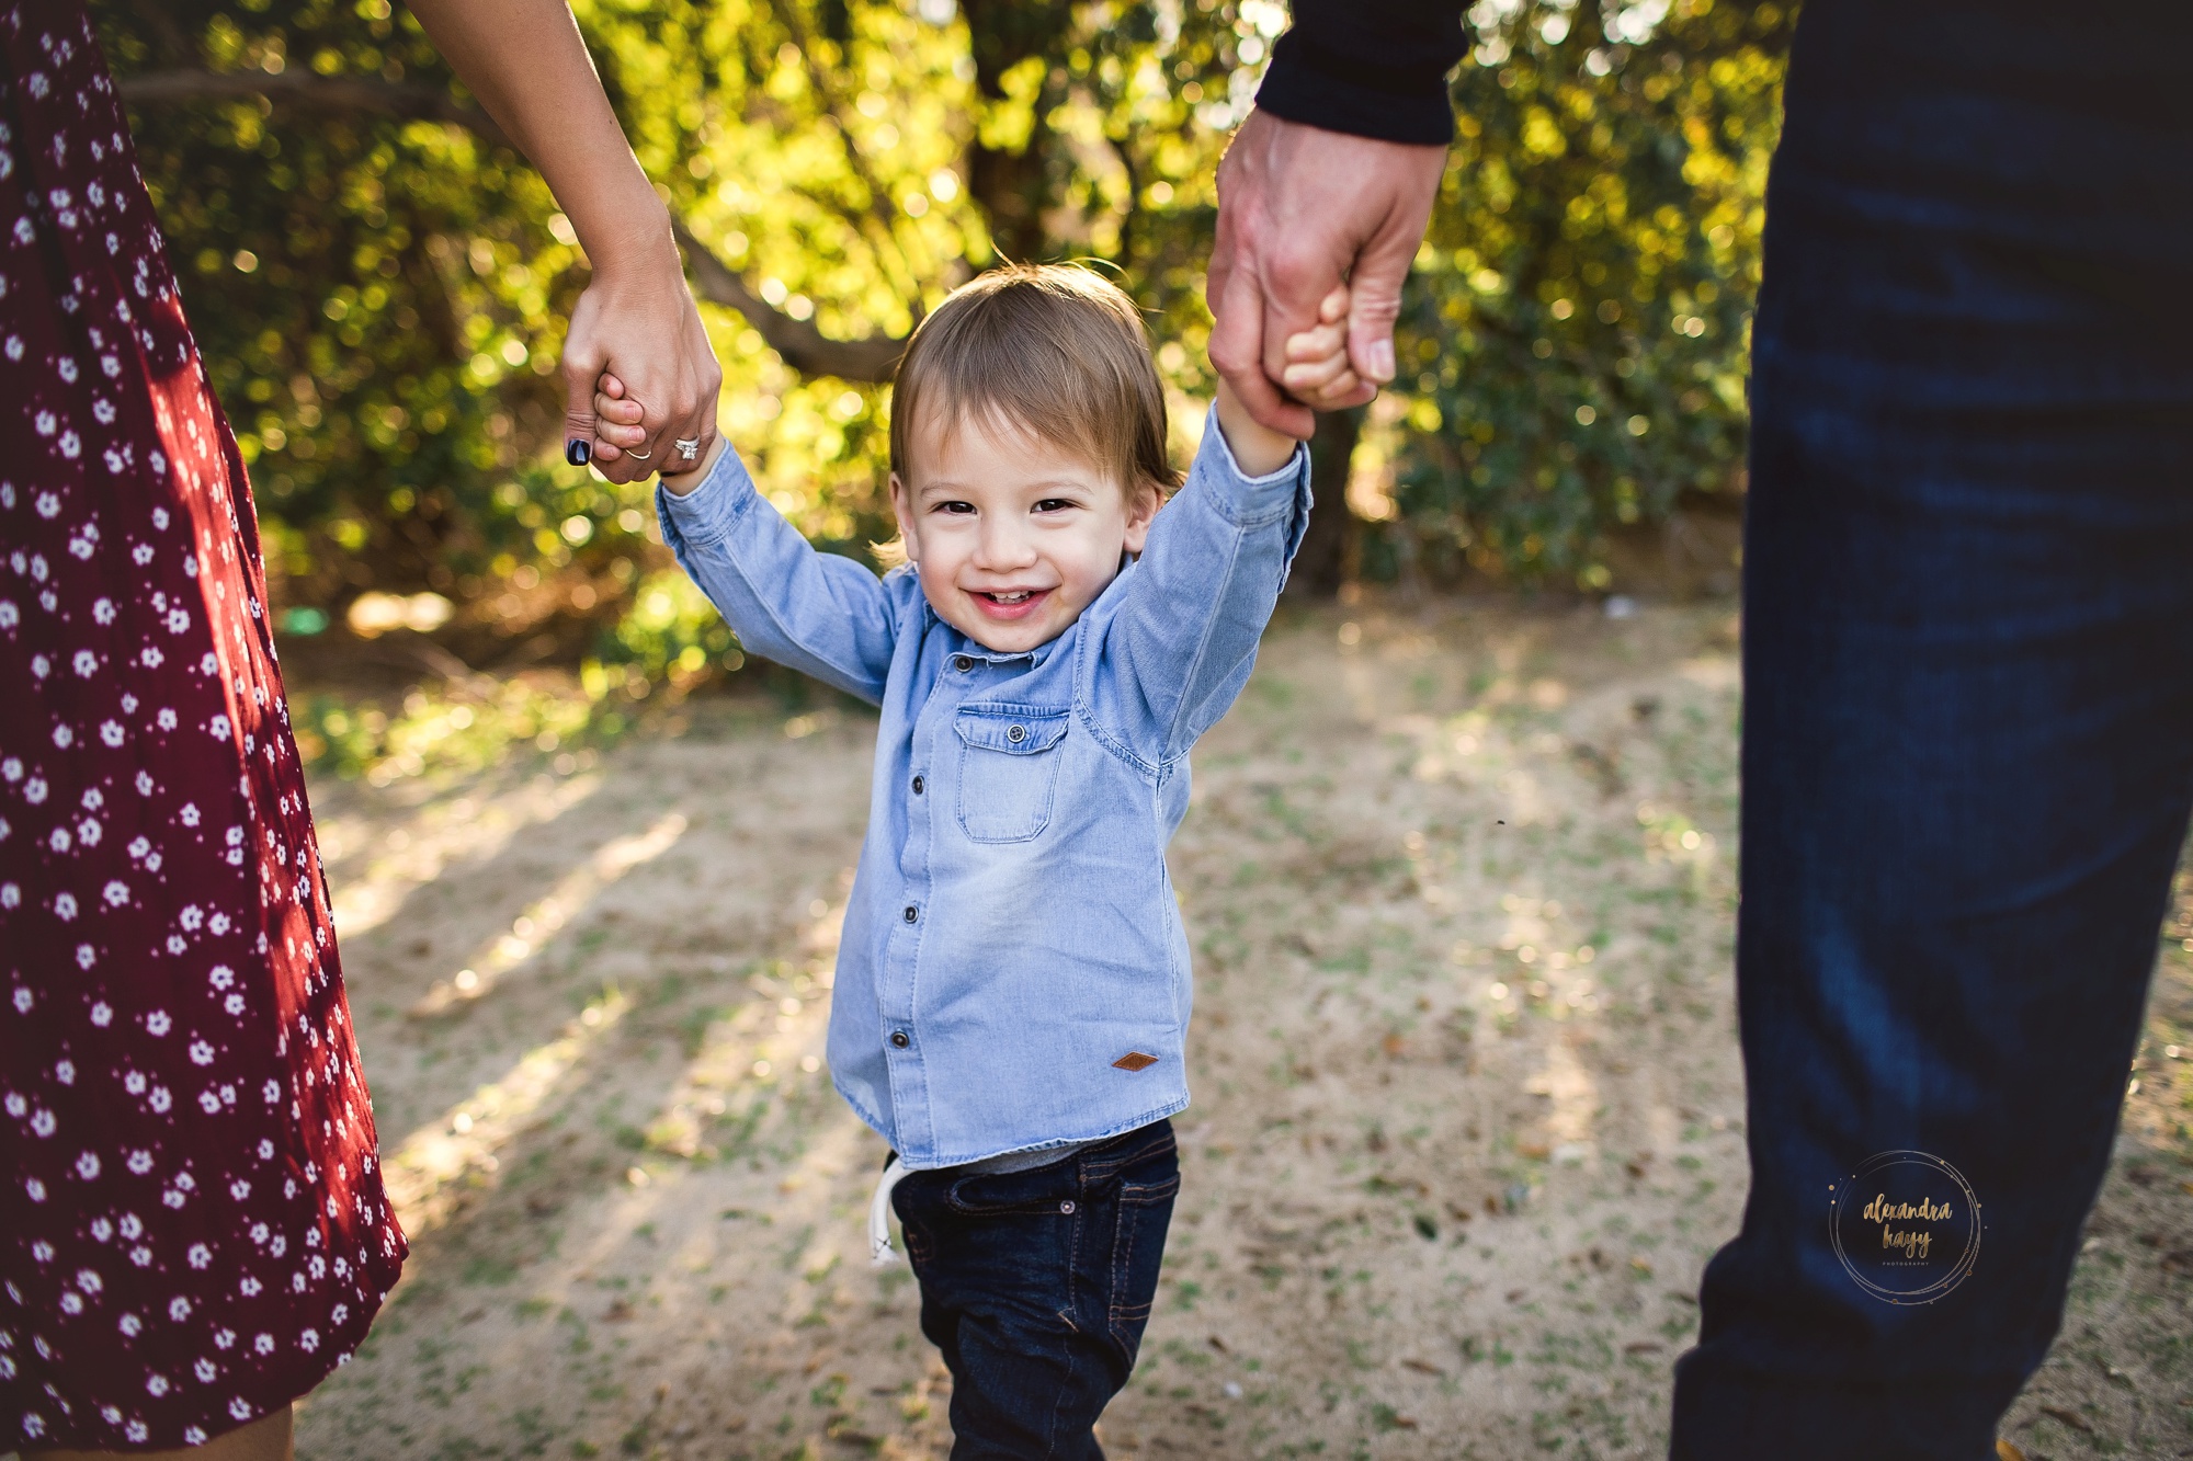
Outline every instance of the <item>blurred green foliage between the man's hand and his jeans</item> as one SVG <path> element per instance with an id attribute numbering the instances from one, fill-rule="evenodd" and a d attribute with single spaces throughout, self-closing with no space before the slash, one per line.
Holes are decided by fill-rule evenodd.
<path id="1" fill-rule="evenodd" d="M 1469 15 L 1461 140 L 1401 340 L 1419 369 L 1401 533 L 1434 566 L 1599 588 L 1610 526 L 1741 491 L 1794 15 L 1739 0 Z"/>

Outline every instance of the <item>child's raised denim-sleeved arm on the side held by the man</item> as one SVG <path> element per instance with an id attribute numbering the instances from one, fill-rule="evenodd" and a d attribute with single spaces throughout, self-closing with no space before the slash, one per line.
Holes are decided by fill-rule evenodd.
<path id="1" fill-rule="evenodd" d="M 1151 524 L 1086 671 L 1099 726 L 1154 766 L 1184 755 L 1248 682 L 1307 526 L 1309 454 L 1219 386 L 1189 483 Z"/>

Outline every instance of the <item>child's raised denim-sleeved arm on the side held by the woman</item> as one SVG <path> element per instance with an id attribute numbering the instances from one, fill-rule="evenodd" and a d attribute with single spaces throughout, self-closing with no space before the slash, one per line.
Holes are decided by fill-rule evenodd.
<path id="1" fill-rule="evenodd" d="M 816 553 L 717 441 L 697 469 L 656 489 L 662 540 L 748 654 L 882 704 L 897 643 L 890 590 L 864 566 Z"/>

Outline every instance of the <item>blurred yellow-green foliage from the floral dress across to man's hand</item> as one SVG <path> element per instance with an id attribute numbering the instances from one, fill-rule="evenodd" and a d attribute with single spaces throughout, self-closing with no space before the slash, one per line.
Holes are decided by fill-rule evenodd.
<path id="1" fill-rule="evenodd" d="M 877 0 L 575 11 L 673 213 L 783 316 L 904 336 L 996 259 L 993 224 L 1026 239 L 1015 219 L 1033 217 L 1039 252 L 1123 270 L 1195 388 L 1226 77 L 1283 24 L 1259 4 L 1055 4 L 1039 26 L 976 7 L 980 33 Z M 511 641 L 548 612 L 629 610 L 667 566 L 643 540 L 647 491 L 559 458 L 555 360 L 583 254 L 522 158 L 441 118 L 469 97 L 417 22 L 388 0 L 94 15 L 125 97 L 206 72 L 265 88 L 140 94 L 132 121 L 276 592 L 340 616 L 368 588 L 432 588 L 458 601 L 454 630 Z M 737 314 L 704 316 L 724 426 L 772 500 L 838 551 L 888 537 L 888 388 L 803 377 Z M 542 575 L 555 592 L 535 592 Z M 634 623 L 603 647 L 647 665 L 682 649 L 658 638 Z"/>

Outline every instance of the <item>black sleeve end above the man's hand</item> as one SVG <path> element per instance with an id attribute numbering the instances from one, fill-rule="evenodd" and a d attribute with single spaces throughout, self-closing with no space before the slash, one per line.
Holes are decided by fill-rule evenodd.
<path id="1" fill-rule="evenodd" d="M 1294 0 L 1257 105 L 1327 132 L 1445 147 L 1447 70 L 1467 50 L 1458 0 Z"/>

